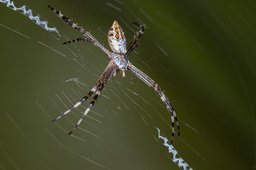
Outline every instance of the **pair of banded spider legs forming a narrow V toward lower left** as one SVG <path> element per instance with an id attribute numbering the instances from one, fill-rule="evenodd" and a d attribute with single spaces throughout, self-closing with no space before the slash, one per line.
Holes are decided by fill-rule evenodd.
<path id="1" fill-rule="evenodd" d="M 63 113 L 59 117 L 54 118 L 54 120 L 52 120 L 52 122 L 55 122 L 59 118 L 67 115 L 70 111 L 72 111 L 75 108 L 77 108 L 78 106 L 80 106 L 84 101 L 86 101 L 86 99 L 88 99 L 88 97 L 90 97 L 98 89 L 96 94 L 95 94 L 95 96 L 93 97 L 91 103 L 89 104 L 88 108 L 84 111 L 83 117 L 81 117 L 79 119 L 79 121 L 77 122 L 75 127 L 72 129 L 72 131 L 70 131 L 69 134 L 74 132 L 76 130 L 76 128 L 78 127 L 78 125 L 81 124 L 83 118 L 91 110 L 93 104 L 97 100 L 97 97 L 100 95 L 101 90 L 104 88 L 104 85 L 106 85 L 106 83 L 108 82 L 109 78 L 111 78 L 111 76 L 112 76 L 113 72 L 115 71 L 115 69 L 116 69 L 115 63 L 113 61 L 110 61 L 108 66 L 106 67 L 105 71 L 101 74 L 101 76 L 100 76 L 99 80 L 97 81 L 96 85 L 92 88 L 92 90 L 90 90 L 90 92 L 88 92 L 88 94 L 86 94 L 86 96 L 84 96 L 83 99 L 81 99 L 81 101 L 76 103 L 72 108 L 70 108 L 69 110 L 65 111 L 65 113 Z"/>

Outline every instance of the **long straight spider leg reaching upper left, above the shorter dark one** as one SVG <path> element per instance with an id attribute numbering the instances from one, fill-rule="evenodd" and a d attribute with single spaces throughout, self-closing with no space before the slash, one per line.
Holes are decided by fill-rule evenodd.
<path id="1" fill-rule="evenodd" d="M 48 7 L 49 7 L 52 11 L 54 11 L 54 13 L 56 13 L 56 14 L 58 15 L 58 17 L 62 18 L 68 25 L 71 25 L 71 26 L 72 26 L 74 29 L 76 29 L 77 31 L 82 32 L 82 34 L 84 34 L 84 36 L 86 36 L 87 38 L 92 39 L 92 41 L 90 41 L 90 42 L 92 42 L 93 45 L 99 47 L 100 50 L 102 50 L 104 53 L 106 53 L 106 54 L 109 56 L 109 58 L 110 58 L 111 52 L 109 52 L 109 50 L 107 50 L 104 46 L 102 46 L 102 45 L 99 43 L 99 41 L 97 41 L 97 39 L 94 38 L 94 37 L 92 36 L 92 34 L 90 34 L 90 32 L 84 30 L 82 27 L 77 26 L 77 25 L 76 25 L 74 22 L 72 22 L 72 20 L 70 20 L 68 17 L 65 17 L 64 15 L 62 15 L 62 13 L 61 13 L 60 11 L 55 10 L 54 8 L 52 8 L 52 7 L 49 6 L 49 5 L 48 5 Z"/>

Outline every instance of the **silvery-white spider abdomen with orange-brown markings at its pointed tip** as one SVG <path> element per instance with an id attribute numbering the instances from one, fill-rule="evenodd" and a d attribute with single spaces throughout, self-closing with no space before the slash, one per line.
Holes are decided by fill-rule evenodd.
<path id="1" fill-rule="evenodd" d="M 116 20 L 109 29 L 108 43 L 113 52 L 126 53 L 126 39 L 124 32 Z"/>

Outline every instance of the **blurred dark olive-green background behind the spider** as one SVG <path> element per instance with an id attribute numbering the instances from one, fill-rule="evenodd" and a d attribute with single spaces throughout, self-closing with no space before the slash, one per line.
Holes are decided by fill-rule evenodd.
<path id="1" fill-rule="evenodd" d="M 180 119 L 181 136 L 173 142 L 180 157 L 193 169 L 256 169 L 255 1 L 14 3 L 40 14 L 61 37 L 0 3 L 1 169 L 179 169 L 155 128 L 170 140 L 168 111 L 129 71 L 108 82 L 74 136 L 68 132 L 88 102 L 51 122 L 95 85 L 108 57 L 90 43 L 63 46 L 82 35 L 48 4 L 108 49 L 114 20 L 127 43 L 137 31 L 131 23 L 146 24 L 129 60 L 172 102 Z M 67 81 L 74 78 L 79 82 Z"/>

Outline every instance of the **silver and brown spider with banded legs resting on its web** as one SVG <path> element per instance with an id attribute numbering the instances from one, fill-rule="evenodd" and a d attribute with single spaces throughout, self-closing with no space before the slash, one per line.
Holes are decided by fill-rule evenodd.
<path id="1" fill-rule="evenodd" d="M 136 35 L 134 36 L 134 39 L 131 41 L 130 45 L 126 48 L 126 39 L 125 39 L 125 36 L 124 36 L 124 32 L 122 31 L 118 22 L 114 21 L 113 25 L 110 27 L 109 32 L 108 32 L 108 43 L 109 43 L 109 46 L 112 50 L 112 52 L 110 52 L 109 50 L 104 48 L 104 46 L 102 46 L 99 43 L 99 41 L 97 41 L 97 39 L 95 39 L 92 36 L 92 34 L 90 34 L 90 32 L 85 31 L 82 27 L 79 27 L 76 24 L 74 24 L 74 22 L 72 22 L 70 19 L 68 19 L 64 15 L 62 15 L 60 11 L 56 11 L 51 6 L 48 6 L 48 7 L 51 8 L 51 10 L 54 11 L 54 13 L 56 13 L 58 15 L 58 17 L 62 18 L 65 22 L 67 22 L 67 24 L 71 25 L 77 31 L 82 32 L 82 34 L 84 34 L 84 36 L 86 37 L 86 38 L 73 39 L 72 41 L 67 41 L 63 44 L 72 43 L 72 42 L 76 42 L 76 41 L 91 42 L 91 43 L 93 43 L 93 45 L 99 47 L 100 50 L 102 50 L 104 53 L 106 53 L 106 55 L 108 55 L 108 57 L 110 59 L 110 62 L 108 64 L 108 66 L 106 67 L 106 69 L 104 70 L 102 75 L 100 76 L 99 80 L 97 81 L 97 83 L 93 87 L 93 89 L 90 90 L 90 92 L 88 92 L 88 94 L 86 94 L 86 96 L 84 96 L 83 99 L 81 99 L 81 101 L 76 103 L 72 108 L 65 111 L 65 113 L 63 113 L 59 117 L 52 120 L 52 122 L 55 122 L 59 118 L 67 115 L 67 113 L 69 113 L 70 111 L 77 108 L 81 103 L 86 101 L 86 99 L 88 99 L 88 97 L 90 97 L 93 94 L 93 92 L 95 92 L 97 90 L 97 92 L 96 92 L 95 96 L 93 97 L 90 105 L 88 106 L 86 111 L 84 111 L 83 117 L 81 117 L 79 119 L 76 126 L 72 129 L 72 131 L 70 131 L 69 134 L 74 132 L 76 130 L 76 128 L 78 127 L 78 125 L 81 124 L 83 118 L 86 116 L 86 114 L 92 108 L 93 104 L 97 100 L 97 97 L 100 95 L 101 90 L 104 88 L 104 86 L 108 82 L 109 78 L 111 78 L 111 76 L 113 76 L 113 77 L 116 76 L 117 72 L 120 73 L 120 75 L 122 75 L 122 77 L 124 77 L 125 76 L 125 70 L 128 69 L 133 74 L 138 76 L 138 78 L 140 78 L 140 80 L 144 81 L 149 87 L 156 90 L 157 94 L 159 95 L 159 97 L 163 101 L 167 110 L 170 112 L 171 119 L 172 119 L 172 139 L 171 139 L 171 143 L 172 143 L 173 136 L 174 136 L 174 119 L 175 119 L 175 122 L 177 124 L 178 136 L 180 135 L 180 133 L 179 133 L 179 122 L 178 122 L 178 119 L 177 119 L 177 116 L 176 116 L 176 113 L 173 109 L 172 104 L 170 103 L 168 98 L 163 94 L 162 90 L 157 85 L 157 83 L 154 80 L 152 80 L 149 76 L 147 76 L 147 74 L 140 71 L 140 69 L 133 66 L 131 64 L 131 62 L 129 62 L 129 60 L 127 59 L 127 56 L 129 55 L 129 53 L 131 53 L 132 50 L 134 50 L 134 48 L 136 48 L 138 46 L 138 40 L 140 39 L 141 34 L 143 34 L 143 32 L 144 32 L 145 25 L 133 23 L 135 25 L 138 25 L 138 27 L 140 27 L 140 30 L 136 33 Z"/>

